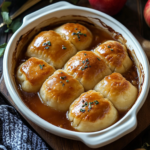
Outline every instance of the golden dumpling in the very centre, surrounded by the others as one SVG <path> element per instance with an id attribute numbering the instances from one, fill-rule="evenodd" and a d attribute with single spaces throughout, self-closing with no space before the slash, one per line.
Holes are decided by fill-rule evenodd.
<path id="1" fill-rule="evenodd" d="M 64 66 L 64 70 L 78 79 L 85 90 L 92 89 L 111 70 L 106 63 L 92 51 L 80 51 Z"/>

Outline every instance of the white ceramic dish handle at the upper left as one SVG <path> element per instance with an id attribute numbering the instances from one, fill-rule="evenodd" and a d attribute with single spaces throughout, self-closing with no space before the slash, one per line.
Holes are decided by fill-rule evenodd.
<path id="1" fill-rule="evenodd" d="M 72 4 L 68 3 L 68 2 L 65 2 L 65 1 L 57 2 L 55 4 L 50 4 L 49 6 L 46 6 L 46 7 L 42 8 L 42 9 L 39 9 L 39 10 L 37 10 L 37 11 L 27 15 L 27 16 L 25 16 L 23 18 L 23 24 L 25 24 L 26 22 L 31 21 L 33 18 L 35 19 L 36 16 L 39 17 L 41 14 L 43 14 L 43 12 L 47 13 L 48 11 L 52 11 L 54 9 L 60 9 L 62 7 L 68 7 L 68 6 L 74 6 L 74 5 L 72 5 Z"/>

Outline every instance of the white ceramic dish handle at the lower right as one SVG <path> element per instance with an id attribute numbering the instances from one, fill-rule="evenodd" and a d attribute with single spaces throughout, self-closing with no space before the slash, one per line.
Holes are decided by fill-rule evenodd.
<path id="1" fill-rule="evenodd" d="M 104 130 L 103 132 L 93 133 L 89 135 L 82 135 L 80 140 L 91 148 L 98 148 L 105 146 L 122 136 L 133 131 L 137 126 L 136 116 L 131 114 L 126 119 L 121 122 L 118 122 L 117 128 L 110 127 L 109 130 Z"/>

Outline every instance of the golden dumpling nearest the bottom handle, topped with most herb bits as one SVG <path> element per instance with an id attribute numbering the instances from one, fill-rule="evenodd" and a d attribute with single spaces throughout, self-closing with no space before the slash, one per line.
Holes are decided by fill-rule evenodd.
<path id="1" fill-rule="evenodd" d="M 118 113 L 112 103 L 99 92 L 90 90 L 76 99 L 69 108 L 68 119 L 78 131 L 98 131 L 117 121 Z"/>

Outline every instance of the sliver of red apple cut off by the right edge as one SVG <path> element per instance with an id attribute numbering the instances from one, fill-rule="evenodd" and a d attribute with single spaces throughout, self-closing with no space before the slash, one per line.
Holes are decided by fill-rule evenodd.
<path id="1" fill-rule="evenodd" d="M 148 0 L 145 5 L 144 18 L 145 18 L 147 25 L 150 27 L 150 0 Z"/>

